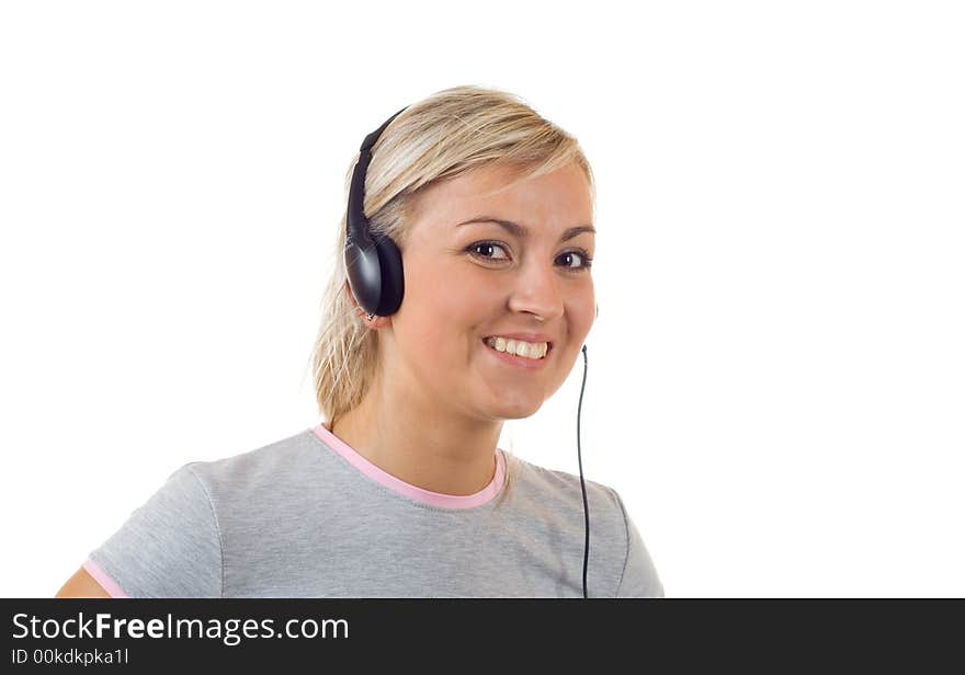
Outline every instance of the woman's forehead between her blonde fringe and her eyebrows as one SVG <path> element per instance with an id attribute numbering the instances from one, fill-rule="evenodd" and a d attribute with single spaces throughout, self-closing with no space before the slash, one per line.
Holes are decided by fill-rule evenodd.
<path id="1" fill-rule="evenodd" d="M 536 233 L 591 224 L 590 184 L 579 165 L 534 179 L 520 175 L 490 165 L 429 186 L 413 202 L 412 234 L 454 233 L 457 224 L 481 215 L 521 222 Z"/>

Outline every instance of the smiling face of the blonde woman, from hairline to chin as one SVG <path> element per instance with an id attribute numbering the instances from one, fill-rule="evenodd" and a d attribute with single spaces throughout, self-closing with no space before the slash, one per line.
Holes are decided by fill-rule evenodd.
<path id="1" fill-rule="evenodd" d="M 379 335 L 388 377 L 487 421 L 535 413 L 566 380 L 595 314 L 587 178 L 570 164 L 495 192 L 513 178 L 490 165 L 416 197 L 405 296 L 391 335 Z M 544 358 L 510 357 L 485 341 L 519 333 L 548 342 Z"/>

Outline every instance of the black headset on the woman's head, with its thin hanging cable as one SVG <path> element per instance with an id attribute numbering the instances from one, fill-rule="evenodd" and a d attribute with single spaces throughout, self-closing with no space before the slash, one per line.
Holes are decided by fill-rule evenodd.
<path id="1" fill-rule="evenodd" d="M 372 131 L 359 148 L 359 161 L 352 172 L 349 187 L 349 210 L 345 217 L 345 268 L 349 286 L 359 306 L 366 314 L 388 317 L 398 311 L 405 293 L 402 255 L 390 237 L 373 234 L 365 217 L 365 174 L 372 161 L 372 146 L 389 123 L 408 106 L 386 119 Z M 583 345 L 583 382 L 580 386 L 580 402 L 577 408 L 577 459 L 580 465 L 580 489 L 583 493 L 583 597 L 587 595 L 587 562 L 590 556 L 590 511 L 587 503 L 587 485 L 583 482 L 583 460 L 580 455 L 580 411 L 583 407 L 583 388 L 587 385 L 587 345 Z"/>

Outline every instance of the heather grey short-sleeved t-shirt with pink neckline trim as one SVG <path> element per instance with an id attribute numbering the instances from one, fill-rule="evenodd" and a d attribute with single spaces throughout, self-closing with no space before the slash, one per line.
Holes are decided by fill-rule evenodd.
<path id="1" fill-rule="evenodd" d="M 480 492 L 440 494 L 319 425 L 182 466 L 83 567 L 115 597 L 582 597 L 579 477 L 493 460 Z M 586 485 L 589 596 L 662 597 L 620 495 Z"/>

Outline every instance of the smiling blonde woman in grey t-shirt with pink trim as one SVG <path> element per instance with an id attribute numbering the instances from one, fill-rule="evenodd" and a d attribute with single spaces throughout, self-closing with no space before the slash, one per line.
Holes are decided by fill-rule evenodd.
<path id="1" fill-rule="evenodd" d="M 347 215 L 313 356 L 326 421 L 181 467 L 58 597 L 583 596 L 579 478 L 497 444 L 559 389 L 595 318 L 587 159 L 476 87 L 372 138 L 359 211 L 398 249 L 399 297 L 360 306 Z M 662 596 L 620 495 L 586 492 L 588 596 Z"/>

